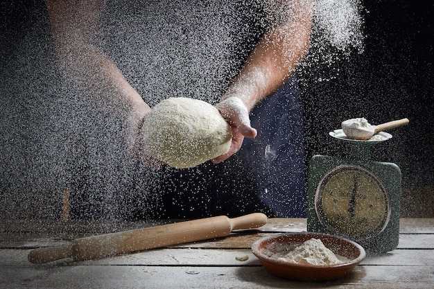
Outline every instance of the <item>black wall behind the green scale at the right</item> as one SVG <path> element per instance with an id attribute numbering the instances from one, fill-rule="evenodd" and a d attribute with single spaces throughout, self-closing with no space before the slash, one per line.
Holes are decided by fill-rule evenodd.
<path id="1" fill-rule="evenodd" d="M 391 141 L 375 145 L 372 158 L 401 168 L 404 186 L 434 184 L 434 105 L 431 2 L 363 1 L 365 50 L 316 67 L 302 82 L 308 159 L 339 155 L 328 136 L 341 121 L 365 117 L 372 124 L 407 117 Z M 333 76 L 328 81 L 318 81 Z"/>

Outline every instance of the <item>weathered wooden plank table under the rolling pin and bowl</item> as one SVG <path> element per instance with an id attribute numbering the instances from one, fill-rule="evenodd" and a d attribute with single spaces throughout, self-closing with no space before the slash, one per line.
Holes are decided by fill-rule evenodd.
<path id="1" fill-rule="evenodd" d="M 162 222 L 1 220 L 1 288 L 434 288 L 434 219 L 401 219 L 399 247 L 367 256 L 351 274 L 328 282 L 295 282 L 268 273 L 250 246 L 270 234 L 306 231 L 306 219 L 272 218 L 227 238 L 82 261 L 28 263 L 41 246 Z M 247 260 L 246 260 L 247 259 Z"/>

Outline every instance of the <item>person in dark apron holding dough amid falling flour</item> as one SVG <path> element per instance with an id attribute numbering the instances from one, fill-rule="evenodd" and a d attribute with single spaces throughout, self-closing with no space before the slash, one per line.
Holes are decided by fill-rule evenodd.
<path id="1" fill-rule="evenodd" d="M 128 218 L 305 216 L 302 111 L 293 73 L 309 49 L 312 1 L 76 2 L 47 1 L 62 73 L 90 105 L 119 119 L 125 143 L 116 157 L 111 150 L 103 172 L 85 174 L 105 187 L 87 181 L 76 189 L 82 192 L 71 207 L 77 216 L 110 209 Z M 215 105 L 232 130 L 229 150 L 186 169 L 144 154 L 144 120 L 170 97 Z M 125 152 L 146 166 L 124 165 Z M 105 202 L 86 192 L 97 190 Z M 110 202 L 108 209 L 101 205 Z"/>

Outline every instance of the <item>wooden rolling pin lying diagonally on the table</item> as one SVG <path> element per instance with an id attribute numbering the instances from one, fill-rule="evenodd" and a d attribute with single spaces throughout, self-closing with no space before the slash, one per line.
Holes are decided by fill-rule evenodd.
<path id="1" fill-rule="evenodd" d="M 71 258 L 74 261 L 96 259 L 103 256 L 225 237 L 233 230 L 257 228 L 266 225 L 266 222 L 267 216 L 263 213 L 251 213 L 238 218 L 217 216 L 76 238 L 69 245 L 33 249 L 28 254 L 28 261 L 42 264 L 65 258 Z"/>

